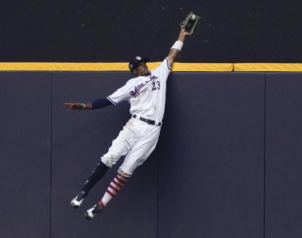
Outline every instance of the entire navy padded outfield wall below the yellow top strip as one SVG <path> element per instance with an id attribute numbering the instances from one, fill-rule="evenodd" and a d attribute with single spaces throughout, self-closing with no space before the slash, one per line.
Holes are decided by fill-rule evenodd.
<path id="1" fill-rule="evenodd" d="M 300 237 L 301 76 L 171 72 L 156 149 L 87 221 L 119 165 L 83 206 L 69 202 L 129 104 L 66 112 L 64 103 L 107 96 L 131 73 L 0 72 L 2 236 Z"/>

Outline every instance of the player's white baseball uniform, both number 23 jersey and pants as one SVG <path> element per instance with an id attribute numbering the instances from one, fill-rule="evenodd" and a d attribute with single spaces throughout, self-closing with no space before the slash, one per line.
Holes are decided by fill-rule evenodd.
<path id="1" fill-rule="evenodd" d="M 158 68 L 150 70 L 150 75 L 130 79 L 107 99 L 113 104 L 128 100 L 131 114 L 161 121 L 165 111 L 166 81 L 170 72 L 168 58 L 165 58 Z M 111 168 L 126 154 L 118 173 L 132 175 L 133 170 L 143 164 L 154 150 L 160 128 L 161 126 L 130 118 L 112 142 L 109 151 L 101 157 L 102 162 Z"/>

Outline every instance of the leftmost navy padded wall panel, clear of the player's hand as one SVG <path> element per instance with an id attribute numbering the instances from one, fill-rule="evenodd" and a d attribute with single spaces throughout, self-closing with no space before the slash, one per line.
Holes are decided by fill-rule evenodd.
<path id="1" fill-rule="evenodd" d="M 1 237 L 49 237 L 51 72 L 0 72 Z"/>

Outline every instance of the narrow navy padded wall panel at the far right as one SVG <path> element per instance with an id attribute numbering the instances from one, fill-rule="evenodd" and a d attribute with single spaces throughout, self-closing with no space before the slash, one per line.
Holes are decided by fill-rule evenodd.
<path id="1" fill-rule="evenodd" d="M 266 73 L 266 236 L 302 237 L 302 73 Z"/>

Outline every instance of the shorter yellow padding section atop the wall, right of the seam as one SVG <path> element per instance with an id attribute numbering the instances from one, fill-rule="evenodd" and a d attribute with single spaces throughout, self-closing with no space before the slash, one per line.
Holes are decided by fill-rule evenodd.
<path id="1" fill-rule="evenodd" d="M 236 63 L 234 71 L 284 71 L 299 72 L 302 71 L 300 63 Z"/>

